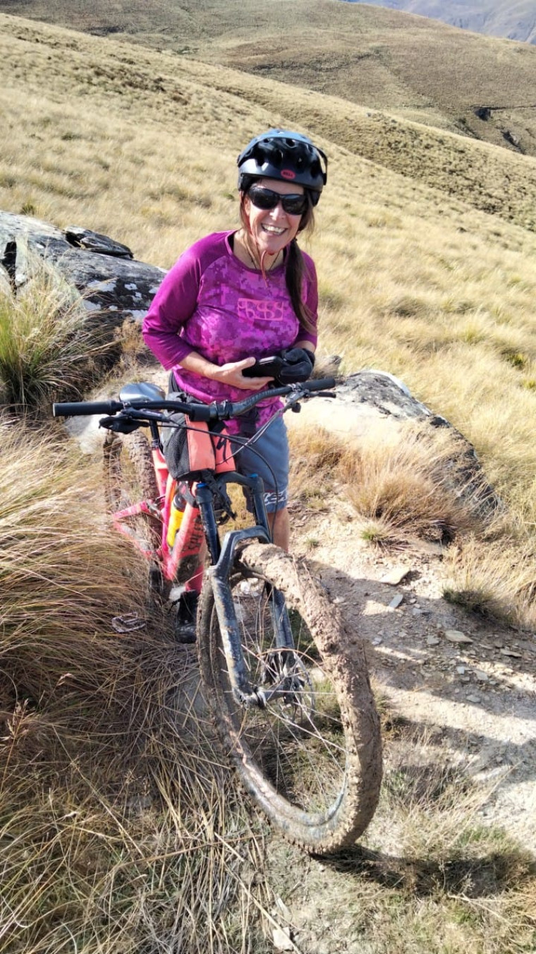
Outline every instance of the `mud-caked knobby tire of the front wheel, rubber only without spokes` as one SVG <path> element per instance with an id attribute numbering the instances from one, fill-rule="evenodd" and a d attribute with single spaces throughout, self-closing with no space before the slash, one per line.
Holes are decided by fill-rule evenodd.
<path id="1" fill-rule="evenodd" d="M 217 729 L 245 787 L 288 840 L 315 854 L 331 854 L 355 843 L 363 834 L 374 815 L 380 793 L 380 723 L 363 642 L 347 632 L 340 612 L 331 604 L 305 561 L 272 545 L 250 542 L 237 553 L 233 572 L 245 578 L 253 574 L 282 591 L 288 607 L 298 611 L 306 621 L 321 653 L 340 707 L 347 750 L 345 791 L 334 819 L 320 826 L 304 823 L 302 812 L 287 803 L 282 805 L 276 793 L 270 794 L 268 782 L 266 788 L 264 784 L 259 785 L 255 772 L 250 771 L 248 751 L 241 750 L 221 685 L 219 667 L 223 656 L 216 645 L 219 627 L 217 622 L 214 625 L 214 597 L 207 580 L 198 616 L 199 655 Z"/>

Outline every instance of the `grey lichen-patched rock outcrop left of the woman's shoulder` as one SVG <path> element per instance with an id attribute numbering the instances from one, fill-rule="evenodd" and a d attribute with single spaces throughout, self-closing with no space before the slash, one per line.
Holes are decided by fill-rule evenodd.
<path id="1" fill-rule="evenodd" d="M 16 289 L 27 280 L 28 253 L 48 261 L 99 310 L 110 332 L 141 321 L 166 272 L 133 259 L 127 245 L 78 226 L 58 229 L 30 216 L 0 212 L 0 262 Z"/>

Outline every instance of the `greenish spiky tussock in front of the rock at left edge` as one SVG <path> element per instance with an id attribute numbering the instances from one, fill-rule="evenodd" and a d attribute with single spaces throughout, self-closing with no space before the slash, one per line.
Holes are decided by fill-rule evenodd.
<path id="1" fill-rule="evenodd" d="M 0 403 L 47 415 L 52 400 L 80 397 L 94 383 L 109 345 L 55 269 L 26 259 L 25 283 L 0 293 Z"/>

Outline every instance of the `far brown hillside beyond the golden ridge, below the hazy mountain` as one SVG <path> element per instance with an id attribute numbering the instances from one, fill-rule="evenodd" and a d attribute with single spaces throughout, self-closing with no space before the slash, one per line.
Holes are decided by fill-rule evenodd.
<path id="1" fill-rule="evenodd" d="M 0 0 L 0 10 L 137 40 L 536 155 L 536 50 L 398 10 L 341 0 L 94 0 L 74 9 L 69 0 Z M 492 108 L 486 120 L 475 113 L 482 107 Z"/>

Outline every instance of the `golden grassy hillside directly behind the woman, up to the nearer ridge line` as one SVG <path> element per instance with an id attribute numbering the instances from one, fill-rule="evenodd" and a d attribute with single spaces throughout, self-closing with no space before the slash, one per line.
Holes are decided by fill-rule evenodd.
<path id="1" fill-rule="evenodd" d="M 82 222 L 169 266 L 236 221 L 235 156 L 248 137 L 303 124 L 330 157 L 311 245 L 323 348 L 346 370 L 400 374 L 532 512 L 533 159 L 170 54 L 17 18 L 2 28 L 1 207 Z M 360 155 L 367 142 L 408 175 Z"/>

